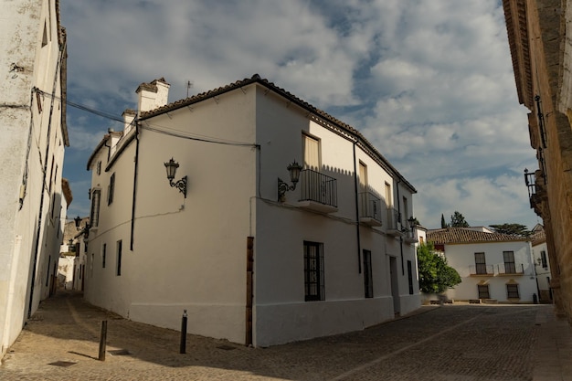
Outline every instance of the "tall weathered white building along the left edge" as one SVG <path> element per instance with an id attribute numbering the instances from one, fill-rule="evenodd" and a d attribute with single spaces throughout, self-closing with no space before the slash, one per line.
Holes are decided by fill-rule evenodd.
<path id="1" fill-rule="evenodd" d="M 55 290 L 68 202 L 62 190 L 66 34 L 58 1 L 2 1 L 0 350 Z"/>

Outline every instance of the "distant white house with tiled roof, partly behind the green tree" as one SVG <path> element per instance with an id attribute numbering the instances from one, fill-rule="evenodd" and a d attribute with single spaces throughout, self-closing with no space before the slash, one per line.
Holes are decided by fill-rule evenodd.
<path id="1" fill-rule="evenodd" d="M 538 290 L 529 238 L 479 227 L 429 230 L 427 240 L 461 276 L 461 284 L 447 291 L 450 300 L 535 301 Z"/>

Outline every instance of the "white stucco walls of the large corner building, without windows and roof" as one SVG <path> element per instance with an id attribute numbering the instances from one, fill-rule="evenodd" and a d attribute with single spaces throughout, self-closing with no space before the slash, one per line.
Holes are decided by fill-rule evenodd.
<path id="1" fill-rule="evenodd" d="M 120 156 L 109 166 L 107 148 L 101 148 L 91 162 L 92 188 L 101 189 L 101 213 L 99 227 L 90 230 L 84 294 L 88 301 L 132 320 L 172 329 L 180 328 L 187 310 L 189 333 L 243 343 L 247 239 L 253 237 L 256 345 L 359 330 L 393 318 L 389 256 L 399 263 L 400 312 L 418 308 L 415 248 L 387 238 L 386 226 L 359 228 L 359 248 L 372 252 L 374 298 L 364 297 L 353 143 L 259 86 L 245 86 L 142 121 L 133 230 L 136 142 L 114 153 Z M 153 131 L 157 128 L 186 139 Z M 322 140 L 323 173 L 337 178 L 334 214 L 302 210 L 297 191 L 288 192 L 283 204 L 277 202 L 277 178 L 289 178 L 286 166 L 292 160 L 302 162 L 302 132 Z M 260 147 L 249 145 L 254 143 Z M 188 176 L 186 198 L 166 179 L 164 163 L 171 157 L 180 165 L 175 181 Z M 100 160 L 102 171 L 97 175 Z M 385 183 L 396 188 L 392 176 L 359 147 L 355 160 L 367 164 L 369 185 L 382 198 Z M 108 206 L 113 173 L 114 200 Z M 391 204 L 397 206 L 407 196 L 412 211 L 410 190 L 399 186 L 400 197 Z M 304 302 L 304 239 L 324 244 L 322 302 Z M 118 240 L 122 240 L 121 275 L 116 273 Z M 412 294 L 407 267 L 401 271 L 402 257 L 405 266 L 407 260 L 413 263 Z"/>

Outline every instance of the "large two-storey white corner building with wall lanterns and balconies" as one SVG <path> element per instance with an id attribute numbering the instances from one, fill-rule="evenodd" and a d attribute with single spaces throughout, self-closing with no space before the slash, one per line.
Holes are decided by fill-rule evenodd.
<path id="1" fill-rule="evenodd" d="M 257 346 L 419 307 L 416 190 L 359 132 L 258 75 L 168 89 L 143 83 L 90 156 L 89 302 Z"/>

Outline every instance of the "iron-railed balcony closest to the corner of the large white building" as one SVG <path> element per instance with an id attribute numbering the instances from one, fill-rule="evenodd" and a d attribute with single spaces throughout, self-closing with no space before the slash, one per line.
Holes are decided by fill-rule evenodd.
<path id="1" fill-rule="evenodd" d="M 337 212 L 337 180 L 334 177 L 304 169 L 300 174 L 300 189 L 298 206 L 321 213 Z"/>

